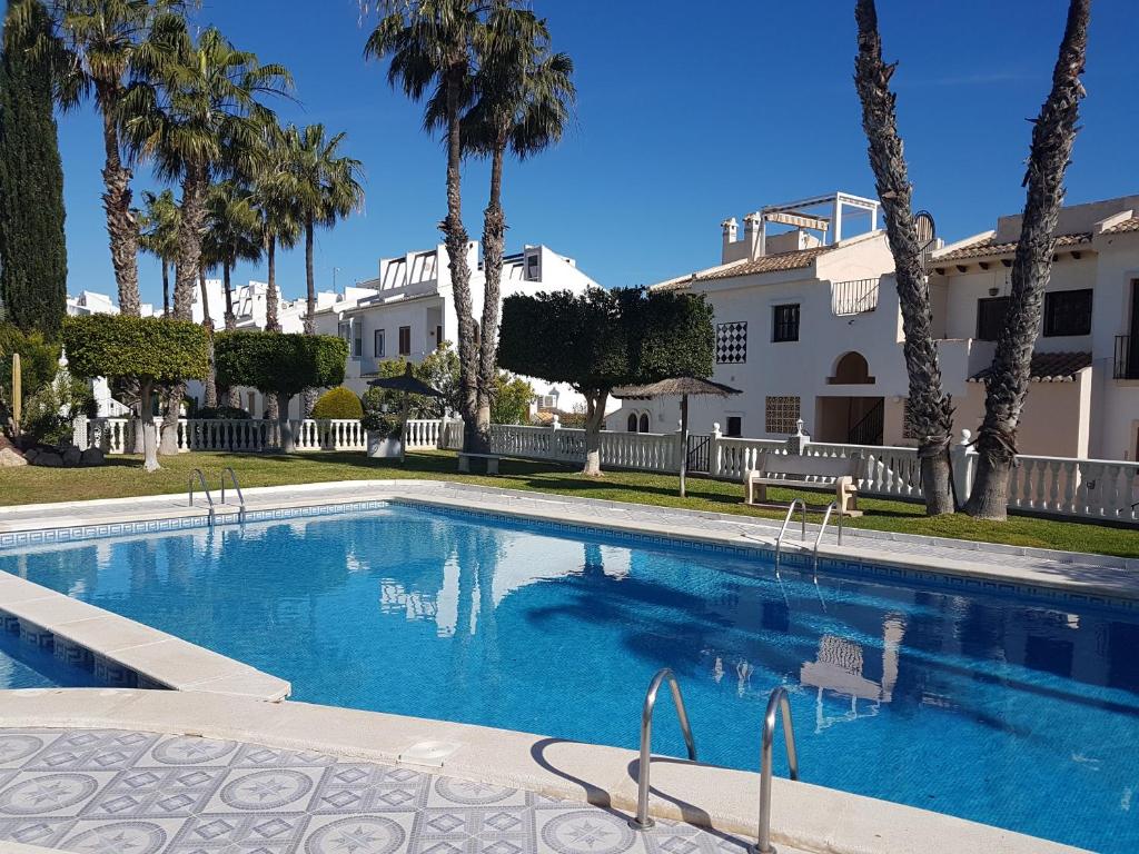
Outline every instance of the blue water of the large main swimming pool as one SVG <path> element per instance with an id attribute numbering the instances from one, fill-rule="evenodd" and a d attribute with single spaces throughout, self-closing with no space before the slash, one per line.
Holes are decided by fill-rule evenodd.
<path id="1" fill-rule="evenodd" d="M 700 758 L 759 763 L 792 691 L 803 779 L 1139 851 L 1139 614 L 820 575 L 391 506 L 0 569 L 293 682 L 294 697 L 636 747 L 653 673 Z M 681 753 L 667 703 L 654 746 Z"/>

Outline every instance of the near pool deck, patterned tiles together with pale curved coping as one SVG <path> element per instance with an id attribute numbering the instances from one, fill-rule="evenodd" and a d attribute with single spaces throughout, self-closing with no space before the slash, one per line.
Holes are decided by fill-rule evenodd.
<path id="1" fill-rule="evenodd" d="M 28 734 L 44 746 L 16 749 Z M 757 774 L 655 757 L 658 824 L 633 834 L 626 820 L 637 758 L 632 750 L 302 703 L 118 689 L 0 692 L 0 839 L 76 854 L 744 854 L 755 834 Z M 74 794 L 41 791 L 56 783 Z M 52 791 L 64 803 L 52 804 Z M 98 847 L 101 834 L 142 832 L 132 829 L 140 823 L 161 828 L 165 847 Z M 377 839 L 355 848 L 351 836 L 329 839 L 358 826 Z M 276 844 L 267 836 L 274 830 L 282 837 Z M 233 847 L 207 844 L 210 835 Z M 772 839 L 781 854 L 1077 851 L 779 778 Z"/>

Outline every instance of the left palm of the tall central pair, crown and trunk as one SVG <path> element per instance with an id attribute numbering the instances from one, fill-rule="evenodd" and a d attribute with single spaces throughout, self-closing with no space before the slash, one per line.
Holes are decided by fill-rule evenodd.
<path id="1" fill-rule="evenodd" d="M 480 0 L 378 0 L 380 20 L 368 36 L 364 56 L 391 58 L 387 81 L 415 101 L 432 91 L 425 126 L 442 116 L 446 132 L 446 219 L 442 222 L 459 326 L 460 412 L 467 447 L 478 441 L 478 327 L 470 301 L 467 229 L 462 224 L 462 132 L 470 99 L 470 71 L 485 39 L 485 2 Z"/>

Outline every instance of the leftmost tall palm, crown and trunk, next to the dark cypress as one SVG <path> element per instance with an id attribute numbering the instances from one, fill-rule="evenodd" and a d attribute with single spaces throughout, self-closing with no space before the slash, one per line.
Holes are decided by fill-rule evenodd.
<path id="1" fill-rule="evenodd" d="M 131 207 L 131 167 L 124 163 L 121 133 L 131 116 L 125 104 L 129 77 L 149 52 L 146 38 L 158 15 L 177 16 L 183 0 L 47 0 L 52 20 L 50 38 L 36 50 L 51 57 L 56 96 L 64 109 L 95 98 L 103 120 L 103 206 L 110 238 L 110 260 L 118 287 L 118 309 L 138 317 L 139 231 Z M 31 23 L 31 5 L 14 7 L 10 25 Z M 150 57 L 151 65 L 154 57 Z"/>

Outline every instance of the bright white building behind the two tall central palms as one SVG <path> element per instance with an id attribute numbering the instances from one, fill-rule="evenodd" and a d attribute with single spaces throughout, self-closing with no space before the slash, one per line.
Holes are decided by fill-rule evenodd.
<path id="1" fill-rule="evenodd" d="M 485 273 L 477 241 L 467 248 L 470 296 L 475 318 L 482 317 Z M 584 293 L 600 287 L 577 269 L 576 262 L 546 246 L 526 246 L 507 255 L 502 264 L 501 295 L 552 290 Z M 333 305 L 317 311 L 317 331 L 338 335 L 349 343 L 345 385 L 358 394 L 368 388 L 377 366 L 403 356 L 418 362 L 441 344 L 458 339 L 458 317 L 446 248 L 380 258 L 379 274 L 350 288 Z M 572 411 L 584 399 L 565 385 L 531 379 L 543 409 Z"/>

